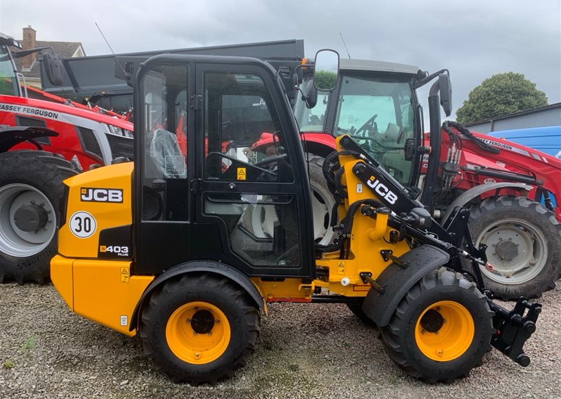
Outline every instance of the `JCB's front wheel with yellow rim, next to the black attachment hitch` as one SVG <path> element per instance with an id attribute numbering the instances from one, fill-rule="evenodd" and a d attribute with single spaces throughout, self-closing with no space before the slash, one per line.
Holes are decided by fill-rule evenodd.
<path id="1" fill-rule="evenodd" d="M 381 330 L 382 341 L 407 374 L 448 382 L 482 364 L 491 347 L 492 317 L 475 283 L 439 268 L 405 294 Z"/>

